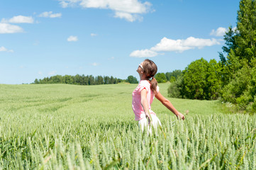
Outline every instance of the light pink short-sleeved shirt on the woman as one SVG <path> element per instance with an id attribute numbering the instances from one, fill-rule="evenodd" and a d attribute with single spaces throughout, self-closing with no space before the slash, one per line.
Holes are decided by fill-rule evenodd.
<path id="1" fill-rule="evenodd" d="M 140 103 L 140 91 L 143 89 L 147 90 L 147 101 L 148 101 L 148 109 L 150 111 L 150 114 L 155 113 L 151 110 L 151 103 L 155 98 L 154 92 L 150 89 L 150 82 L 147 80 L 140 80 L 140 83 L 136 87 L 136 89 L 133 91 L 133 112 L 135 114 L 135 120 L 141 120 L 145 118 L 145 112 L 143 110 L 143 106 L 141 106 Z M 159 86 L 157 86 L 157 93 L 159 92 Z"/>

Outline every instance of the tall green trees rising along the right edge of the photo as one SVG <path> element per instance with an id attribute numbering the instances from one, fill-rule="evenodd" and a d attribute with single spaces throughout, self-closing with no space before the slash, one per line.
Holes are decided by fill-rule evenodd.
<path id="1" fill-rule="evenodd" d="M 237 29 L 229 28 L 223 52 L 223 101 L 238 104 L 246 111 L 255 110 L 256 1 L 241 0 Z M 220 53 L 221 60 L 224 57 Z"/>

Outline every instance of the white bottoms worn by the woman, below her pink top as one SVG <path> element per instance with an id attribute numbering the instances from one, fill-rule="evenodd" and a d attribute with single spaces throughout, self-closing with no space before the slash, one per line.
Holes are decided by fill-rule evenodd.
<path id="1" fill-rule="evenodd" d="M 148 134 L 152 133 L 151 126 L 153 126 L 153 128 L 155 130 L 157 130 L 157 126 L 158 125 L 162 126 L 159 118 L 157 118 L 157 115 L 154 115 L 154 114 L 150 114 L 150 115 L 151 115 L 151 123 L 150 123 L 150 125 L 148 125 L 148 119 L 147 118 L 143 118 L 143 119 L 138 121 L 139 128 L 142 130 L 142 132 L 144 131 L 145 127 L 148 127 Z"/>

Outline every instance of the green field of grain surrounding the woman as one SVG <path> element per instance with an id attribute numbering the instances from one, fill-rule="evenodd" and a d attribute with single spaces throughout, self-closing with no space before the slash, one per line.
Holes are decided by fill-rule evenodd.
<path id="1" fill-rule="evenodd" d="M 182 121 L 155 99 L 163 132 L 148 136 L 134 120 L 135 86 L 1 84 L 0 169 L 256 169 L 256 115 L 169 98 L 189 110 Z"/>

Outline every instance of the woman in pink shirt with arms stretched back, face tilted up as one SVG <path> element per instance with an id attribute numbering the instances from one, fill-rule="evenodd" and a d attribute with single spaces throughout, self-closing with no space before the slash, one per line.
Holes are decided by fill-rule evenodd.
<path id="1" fill-rule="evenodd" d="M 135 114 L 135 120 L 138 120 L 141 130 L 143 131 L 145 126 L 150 125 L 150 123 L 152 123 L 154 128 L 157 128 L 158 124 L 161 125 L 157 115 L 151 110 L 151 103 L 154 97 L 161 101 L 169 111 L 172 111 L 178 119 L 184 120 L 184 115 L 179 113 L 174 106 L 172 106 L 172 103 L 160 94 L 157 80 L 154 77 L 157 73 L 157 65 L 151 60 L 146 59 L 139 64 L 137 72 L 140 75 L 140 83 L 133 91 L 133 112 Z M 148 132 L 151 132 L 149 126 Z"/>

